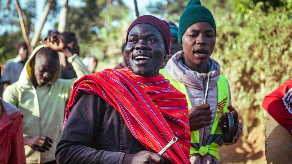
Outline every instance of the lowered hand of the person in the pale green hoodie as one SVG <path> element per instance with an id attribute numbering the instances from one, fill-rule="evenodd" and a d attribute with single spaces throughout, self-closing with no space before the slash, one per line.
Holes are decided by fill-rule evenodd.
<path id="1" fill-rule="evenodd" d="M 24 144 L 28 145 L 32 149 L 40 152 L 45 152 L 48 151 L 49 148 L 52 147 L 50 143 L 53 143 L 53 140 L 50 139 L 47 136 L 35 136 L 35 137 L 30 137 L 26 136 L 24 137 Z"/>

